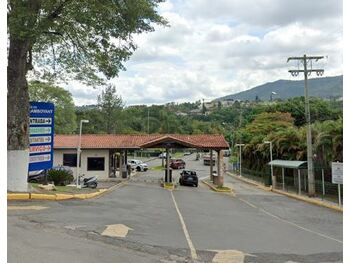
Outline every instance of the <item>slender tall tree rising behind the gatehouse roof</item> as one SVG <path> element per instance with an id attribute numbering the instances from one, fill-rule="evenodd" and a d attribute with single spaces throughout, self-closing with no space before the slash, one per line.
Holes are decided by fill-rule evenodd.
<path id="1" fill-rule="evenodd" d="M 121 123 L 120 115 L 123 109 L 123 100 L 116 93 L 115 86 L 108 85 L 98 96 L 97 103 L 105 121 L 106 133 L 116 133 L 117 125 Z"/>

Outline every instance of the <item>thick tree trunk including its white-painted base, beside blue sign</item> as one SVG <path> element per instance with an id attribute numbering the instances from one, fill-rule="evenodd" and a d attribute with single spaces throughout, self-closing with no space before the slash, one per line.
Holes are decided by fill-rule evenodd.
<path id="1" fill-rule="evenodd" d="M 29 98 L 26 80 L 28 40 L 10 37 L 7 66 L 7 190 L 27 192 Z"/>

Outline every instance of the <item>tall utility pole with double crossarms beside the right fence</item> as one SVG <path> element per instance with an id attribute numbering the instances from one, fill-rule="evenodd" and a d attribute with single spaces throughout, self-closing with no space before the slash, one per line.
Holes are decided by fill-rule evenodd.
<path id="1" fill-rule="evenodd" d="M 307 133 L 306 133 L 306 142 L 307 142 L 307 170 L 308 170 L 308 187 L 309 187 L 309 196 L 315 196 L 315 176 L 313 169 L 313 160 L 312 160 L 312 137 L 311 137 L 311 121 L 310 121 L 310 104 L 309 104 L 309 91 L 307 86 L 308 76 L 312 72 L 316 72 L 317 76 L 322 76 L 324 73 L 323 69 L 312 69 L 312 61 L 317 62 L 320 59 L 323 59 L 323 56 L 302 56 L 302 57 L 289 57 L 287 63 L 290 60 L 297 60 L 301 62 L 304 66 L 303 69 L 293 69 L 288 72 L 292 74 L 293 77 L 299 75 L 299 73 L 304 73 L 304 93 L 305 93 L 305 118 L 307 122 Z M 308 69 L 308 64 L 310 64 L 310 69 Z"/>

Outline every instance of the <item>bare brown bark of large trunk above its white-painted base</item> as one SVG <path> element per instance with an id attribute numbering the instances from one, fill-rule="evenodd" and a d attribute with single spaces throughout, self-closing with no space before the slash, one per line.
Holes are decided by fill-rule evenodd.
<path id="1" fill-rule="evenodd" d="M 7 67 L 7 150 L 29 147 L 29 95 L 26 80 L 29 40 L 10 38 Z"/>

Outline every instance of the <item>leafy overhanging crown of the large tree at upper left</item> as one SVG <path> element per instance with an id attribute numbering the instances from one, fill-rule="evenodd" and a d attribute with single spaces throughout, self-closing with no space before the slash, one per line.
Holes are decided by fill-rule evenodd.
<path id="1" fill-rule="evenodd" d="M 10 0 L 10 41 L 28 41 L 30 62 L 41 77 L 101 83 L 101 73 L 109 79 L 124 70 L 136 49 L 134 34 L 166 25 L 157 13 L 160 2 Z"/>

